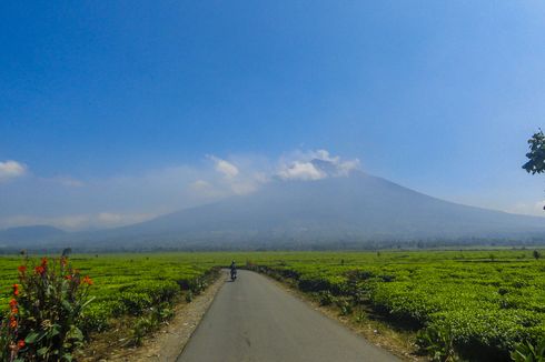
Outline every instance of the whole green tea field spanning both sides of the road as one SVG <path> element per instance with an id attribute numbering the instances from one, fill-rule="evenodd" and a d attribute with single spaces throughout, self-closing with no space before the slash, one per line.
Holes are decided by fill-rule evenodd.
<path id="1" fill-rule="evenodd" d="M 198 293 L 231 259 L 346 315 L 369 311 L 418 332 L 432 354 L 508 360 L 521 341 L 545 336 L 545 262 L 533 250 L 110 254 L 72 263 L 95 281 L 88 323 L 101 330 L 112 316 Z M 1 259 L 0 305 L 19 262 Z"/>

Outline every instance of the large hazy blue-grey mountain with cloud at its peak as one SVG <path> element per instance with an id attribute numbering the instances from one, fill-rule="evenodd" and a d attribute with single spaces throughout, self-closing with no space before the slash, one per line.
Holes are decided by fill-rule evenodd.
<path id="1" fill-rule="evenodd" d="M 330 164 L 318 164 L 320 171 Z M 301 248 L 365 242 L 531 239 L 545 219 L 443 201 L 354 171 L 315 181 L 275 180 L 255 193 L 85 235 L 93 245 L 188 249 Z"/>

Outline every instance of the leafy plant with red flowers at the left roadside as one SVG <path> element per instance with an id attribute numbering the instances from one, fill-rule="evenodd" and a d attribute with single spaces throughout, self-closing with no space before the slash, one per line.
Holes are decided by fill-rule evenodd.
<path id="1" fill-rule="evenodd" d="M 73 269 L 68 257 L 18 268 L 9 312 L 0 324 L 1 361 L 71 361 L 83 342 L 78 328 L 92 280 Z"/>

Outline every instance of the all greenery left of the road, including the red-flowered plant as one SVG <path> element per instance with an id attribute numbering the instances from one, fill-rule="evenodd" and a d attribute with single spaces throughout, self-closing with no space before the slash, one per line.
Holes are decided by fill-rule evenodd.
<path id="1" fill-rule="evenodd" d="M 176 303 L 190 302 L 218 275 L 214 262 L 190 254 L 86 254 L 70 261 L 78 269 L 68 258 L 1 258 L 1 361 L 19 361 L 11 354 L 69 361 L 89 341 L 103 340 L 105 349 L 139 345 L 172 316 Z M 46 293 L 51 295 L 43 299 Z M 32 308 L 39 300 L 46 302 Z"/>

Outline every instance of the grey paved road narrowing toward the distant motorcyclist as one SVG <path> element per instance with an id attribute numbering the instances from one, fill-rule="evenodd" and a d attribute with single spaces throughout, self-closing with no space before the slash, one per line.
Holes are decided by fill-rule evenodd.
<path id="1" fill-rule="evenodd" d="M 397 361 L 262 275 L 226 282 L 178 362 Z"/>

